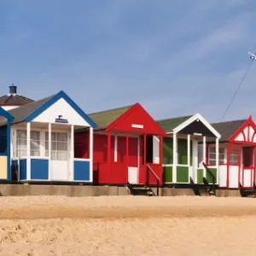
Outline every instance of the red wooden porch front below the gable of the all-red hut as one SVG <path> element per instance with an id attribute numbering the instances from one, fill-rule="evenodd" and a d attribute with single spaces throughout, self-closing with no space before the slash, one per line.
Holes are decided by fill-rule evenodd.
<path id="1" fill-rule="evenodd" d="M 95 133 L 94 180 L 96 183 L 162 183 L 162 136 L 134 132 Z M 102 143 L 107 147 L 104 156 Z"/>

